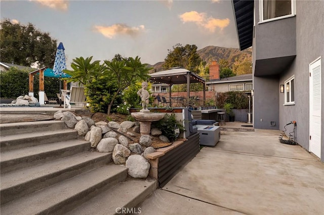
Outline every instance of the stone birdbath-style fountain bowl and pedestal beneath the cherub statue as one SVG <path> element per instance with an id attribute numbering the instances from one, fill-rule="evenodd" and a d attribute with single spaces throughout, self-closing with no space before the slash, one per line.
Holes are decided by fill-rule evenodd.
<path id="1" fill-rule="evenodd" d="M 162 113 L 134 112 L 131 114 L 137 121 L 140 122 L 141 135 L 150 135 L 151 123 L 164 118 Z"/>

